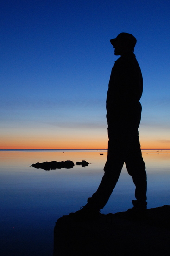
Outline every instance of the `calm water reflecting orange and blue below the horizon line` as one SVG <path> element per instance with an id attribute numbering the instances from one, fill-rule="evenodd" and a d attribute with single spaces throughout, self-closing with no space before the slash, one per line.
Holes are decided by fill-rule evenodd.
<path id="1" fill-rule="evenodd" d="M 52 256 L 55 222 L 86 204 L 101 181 L 106 158 L 105 150 L 0 150 L 1 255 Z M 143 151 L 143 158 L 148 208 L 170 205 L 170 150 Z M 53 160 L 86 160 L 90 164 L 50 171 L 31 167 L 32 163 Z M 134 189 L 123 167 L 101 213 L 131 208 Z"/>

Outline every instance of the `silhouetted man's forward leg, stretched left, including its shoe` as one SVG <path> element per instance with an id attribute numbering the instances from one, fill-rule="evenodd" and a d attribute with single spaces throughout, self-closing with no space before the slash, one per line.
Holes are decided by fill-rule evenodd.
<path id="1" fill-rule="evenodd" d="M 121 144 L 121 143 L 120 143 Z M 79 211 L 70 213 L 69 216 L 76 220 L 96 219 L 119 179 L 124 164 L 121 147 L 114 147 L 112 140 L 108 141 L 107 162 L 104 167 L 104 175 L 97 191 L 88 198 L 88 203 Z"/>

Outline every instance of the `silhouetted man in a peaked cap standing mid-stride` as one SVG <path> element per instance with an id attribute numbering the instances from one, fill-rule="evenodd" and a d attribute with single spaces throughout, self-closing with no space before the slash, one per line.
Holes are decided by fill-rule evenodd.
<path id="1" fill-rule="evenodd" d="M 88 198 L 88 203 L 70 216 L 78 219 L 93 219 L 99 216 L 119 179 L 123 164 L 136 186 L 131 212 L 146 209 L 146 171 L 142 158 L 138 128 L 141 119 L 139 102 L 143 91 L 143 79 L 136 60 L 136 38 L 120 33 L 110 40 L 114 54 L 120 55 L 112 68 L 107 92 L 108 152 L 104 176 L 99 188 Z"/>

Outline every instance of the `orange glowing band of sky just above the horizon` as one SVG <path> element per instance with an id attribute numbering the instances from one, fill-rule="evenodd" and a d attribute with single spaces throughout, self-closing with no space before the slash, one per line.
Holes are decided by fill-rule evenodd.
<path id="1" fill-rule="evenodd" d="M 18 139 L 1 140 L 0 149 L 107 149 L 107 137 L 84 139 Z M 141 140 L 141 149 L 170 149 L 170 143 Z"/>

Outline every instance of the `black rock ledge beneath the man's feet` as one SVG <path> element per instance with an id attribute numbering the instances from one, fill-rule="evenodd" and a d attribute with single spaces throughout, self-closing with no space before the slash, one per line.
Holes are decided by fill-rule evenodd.
<path id="1" fill-rule="evenodd" d="M 170 206 L 101 214 L 100 219 L 76 222 L 58 219 L 54 228 L 54 256 L 169 256 Z"/>

